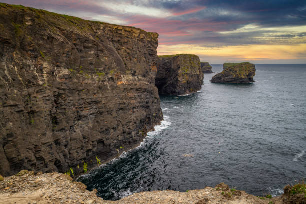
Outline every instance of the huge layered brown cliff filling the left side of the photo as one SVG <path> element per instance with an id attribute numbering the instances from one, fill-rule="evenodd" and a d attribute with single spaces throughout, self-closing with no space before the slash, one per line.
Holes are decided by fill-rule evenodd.
<path id="1" fill-rule="evenodd" d="M 157 37 L 1 3 L 0 174 L 75 172 L 142 141 L 163 118 Z"/>

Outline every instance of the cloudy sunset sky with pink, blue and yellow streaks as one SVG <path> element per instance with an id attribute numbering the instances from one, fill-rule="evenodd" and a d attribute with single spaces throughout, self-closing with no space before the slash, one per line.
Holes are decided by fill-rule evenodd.
<path id="1" fill-rule="evenodd" d="M 306 63 L 306 0 L 0 0 L 159 34 L 158 55 Z"/>

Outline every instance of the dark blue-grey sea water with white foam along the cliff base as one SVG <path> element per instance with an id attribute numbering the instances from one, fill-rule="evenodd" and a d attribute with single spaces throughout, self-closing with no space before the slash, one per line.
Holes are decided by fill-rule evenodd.
<path id="1" fill-rule="evenodd" d="M 213 65 L 214 72 L 222 70 Z M 278 195 L 306 178 L 306 65 L 256 65 L 253 84 L 162 96 L 164 121 L 141 145 L 88 175 L 104 199 L 215 186 Z"/>

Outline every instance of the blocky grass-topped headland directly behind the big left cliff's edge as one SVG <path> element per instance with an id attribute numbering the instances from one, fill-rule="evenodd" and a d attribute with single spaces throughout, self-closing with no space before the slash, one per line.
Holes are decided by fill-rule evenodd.
<path id="1" fill-rule="evenodd" d="M 204 74 L 198 56 L 158 56 L 155 84 L 161 95 L 184 95 L 201 89 Z"/>

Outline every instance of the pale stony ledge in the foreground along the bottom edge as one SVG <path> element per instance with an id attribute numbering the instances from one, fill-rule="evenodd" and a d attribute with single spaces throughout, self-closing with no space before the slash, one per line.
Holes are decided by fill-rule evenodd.
<path id="1" fill-rule="evenodd" d="M 117 201 L 103 200 L 96 196 L 96 190 L 86 190 L 86 185 L 74 182 L 68 175 L 22 170 L 10 177 L 0 176 L 0 203 L 306 203 L 303 194 L 290 196 L 292 188 L 284 188 L 287 195 L 273 198 L 257 197 L 244 191 L 230 189 L 220 183 L 214 188 L 177 192 L 173 190 L 134 193 Z"/>

